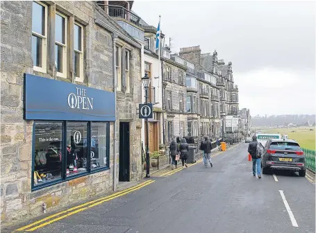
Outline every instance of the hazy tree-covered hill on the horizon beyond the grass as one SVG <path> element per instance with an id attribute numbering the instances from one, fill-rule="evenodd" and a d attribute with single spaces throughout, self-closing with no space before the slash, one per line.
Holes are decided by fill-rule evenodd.
<path id="1" fill-rule="evenodd" d="M 315 126 L 315 114 L 313 115 L 273 115 L 273 116 L 254 116 L 251 118 L 252 126 L 288 126 L 293 123 L 297 126 Z"/>

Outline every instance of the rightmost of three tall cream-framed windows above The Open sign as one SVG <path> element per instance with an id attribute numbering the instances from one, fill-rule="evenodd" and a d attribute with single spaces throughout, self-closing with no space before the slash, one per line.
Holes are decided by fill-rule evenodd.
<path id="1" fill-rule="evenodd" d="M 83 26 L 74 24 L 74 75 L 83 82 Z"/>

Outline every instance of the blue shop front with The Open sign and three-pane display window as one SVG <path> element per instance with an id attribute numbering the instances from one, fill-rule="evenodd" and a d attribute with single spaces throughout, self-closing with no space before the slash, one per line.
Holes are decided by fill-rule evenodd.
<path id="1" fill-rule="evenodd" d="M 113 92 L 25 74 L 24 119 L 33 121 L 32 191 L 110 169 Z"/>

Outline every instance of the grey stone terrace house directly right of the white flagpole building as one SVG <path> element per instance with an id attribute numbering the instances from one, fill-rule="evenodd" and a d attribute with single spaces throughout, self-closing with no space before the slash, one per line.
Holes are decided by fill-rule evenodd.
<path id="1" fill-rule="evenodd" d="M 185 61 L 177 55 L 170 56 L 169 48 L 163 49 L 163 82 L 166 137 L 165 143 L 172 138 L 183 137 L 187 132 L 185 100 L 187 98 Z"/>

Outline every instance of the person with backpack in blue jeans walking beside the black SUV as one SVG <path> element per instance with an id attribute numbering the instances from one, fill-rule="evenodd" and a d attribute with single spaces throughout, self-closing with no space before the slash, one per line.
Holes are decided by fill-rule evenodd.
<path id="1" fill-rule="evenodd" d="M 252 141 L 249 143 L 248 153 L 251 155 L 252 158 L 253 176 L 256 176 L 257 173 L 258 178 L 261 178 L 261 156 L 263 155 L 263 145 L 257 141 L 256 135 L 253 135 Z"/>

